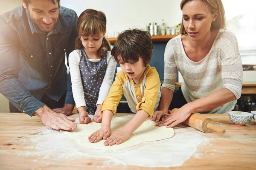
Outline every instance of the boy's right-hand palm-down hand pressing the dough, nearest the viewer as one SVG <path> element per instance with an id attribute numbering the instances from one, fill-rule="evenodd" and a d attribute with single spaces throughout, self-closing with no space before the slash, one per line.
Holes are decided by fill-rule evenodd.
<path id="1" fill-rule="evenodd" d="M 124 130 L 115 131 L 105 142 L 105 146 L 112 146 L 114 144 L 121 144 L 131 137 L 131 133 Z"/>

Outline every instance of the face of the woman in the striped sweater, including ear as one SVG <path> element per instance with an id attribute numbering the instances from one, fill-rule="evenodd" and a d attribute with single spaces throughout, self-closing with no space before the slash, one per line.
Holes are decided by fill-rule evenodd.
<path id="1" fill-rule="evenodd" d="M 211 24 L 218 13 L 211 11 L 202 0 L 187 2 L 182 9 L 183 25 L 192 40 L 199 40 L 210 32 Z"/>

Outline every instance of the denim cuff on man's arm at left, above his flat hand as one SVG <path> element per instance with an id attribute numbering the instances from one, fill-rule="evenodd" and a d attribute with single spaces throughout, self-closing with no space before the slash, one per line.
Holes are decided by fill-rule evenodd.
<path id="1" fill-rule="evenodd" d="M 33 116 L 33 113 L 45 104 L 35 97 L 28 97 L 25 99 L 20 106 L 18 106 L 19 111 L 26 113 L 29 116 Z"/>

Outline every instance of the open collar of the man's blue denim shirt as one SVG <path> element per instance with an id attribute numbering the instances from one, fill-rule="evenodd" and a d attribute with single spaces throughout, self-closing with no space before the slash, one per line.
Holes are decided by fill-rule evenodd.
<path id="1" fill-rule="evenodd" d="M 26 15 L 28 17 L 28 21 L 29 21 L 29 27 L 31 29 L 32 34 L 34 34 L 34 32 L 38 33 L 38 34 L 44 34 L 44 31 L 41 30 L 41 28 L 39 28 L 31 19 L 31 17 L 29 16 L 29 11 L 26 9 Z M 60 16 L 59 16 L 60 17 Z M 58 33 L 64 33 L 64 28 L 58 18 L 57 23 L 55 24 L 54 28 L 52 29 L 52 31 L 50 31 L 48 34 L 58 34 Z"/>

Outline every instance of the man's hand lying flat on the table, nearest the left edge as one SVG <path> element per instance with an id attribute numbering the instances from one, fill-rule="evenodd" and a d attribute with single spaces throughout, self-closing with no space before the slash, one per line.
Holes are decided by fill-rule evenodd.
<path id="1" fill-rule="evenodd" d="M 56 113 L 47 106 L 39 108 L 35 111 L 34 115 L 40 117 L 44 125 L 55 130 L 75 130 L 77 127 L 77 125 L 73 123 L 76 119 L 69 118 L 61 113 Z"/>

